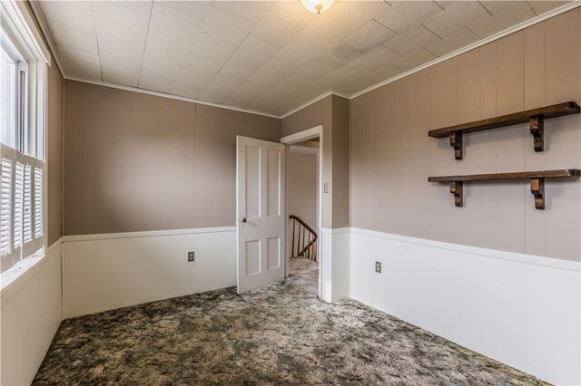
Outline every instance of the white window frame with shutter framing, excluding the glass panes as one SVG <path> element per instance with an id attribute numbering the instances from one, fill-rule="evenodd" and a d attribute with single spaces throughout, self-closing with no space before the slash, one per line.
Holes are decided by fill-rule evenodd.
<path id="1" fill-rule="evenodd" d="M 0 256 L 0 271 L 19 269 L 19 262 L 25 262 L 27 257 L 42 256 L 46 247 L 46 165 L 45 157 L 45 101 L 47 81 L 48 52 L 40 35 L 34 30 L 34 22 L 30 18 L 25 4 L 10 0 L 0 4 L 0 43 L 2 49 L 14 61 L 17 61 L 16 71 L 16 103 L 14 148 L 0 144 L 1 159 L 8 159 L 11 170 L 10 199 L 10 229 L 8 254 Z M 33 27 L 31 27 L 33 25 Z M 31 29 L 32 28 L 32 29 Z M 42 45 L 41 45 L 42 44 Z M 30 169 L 30 186 L 27 187 L 30 198 L 30 211 L 23 212 L 21 233 L 23 241 L 15 246 L 15 168 L 16 163 L 24 164 Z M 40 185 L 36 183 L 36 170 L 40 172 Z M 39 192 L 40 186 L 40 192 Z M 26 187 L 25 187 L 26 189 Z M 22 192 L 24 194 L 24 191 Z M 37 202 L 40 198 L 40 202 Z M 40 207 L 42 213 L 36 214 Z M 29 218 L 29 224 L 24 224 Z M 36 224 L 41 221 L 42 224 Z M 30 227 L 30 239 L 24 239 L 24 228 Z M 40 232 L 36 230 L 39 229 Z"/>

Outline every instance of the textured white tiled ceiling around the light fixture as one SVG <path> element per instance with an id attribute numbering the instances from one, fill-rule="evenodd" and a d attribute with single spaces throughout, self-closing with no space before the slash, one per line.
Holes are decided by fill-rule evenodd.
<path id="1" fill-rule="evenodd" d="M 40 2 L 65 75 L 275 115 L 353 94 L 561 1 Z"/>

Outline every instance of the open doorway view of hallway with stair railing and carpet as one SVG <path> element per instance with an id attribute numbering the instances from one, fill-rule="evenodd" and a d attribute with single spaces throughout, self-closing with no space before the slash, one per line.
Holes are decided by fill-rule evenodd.
<path id="1" fill-rule="evenodd" d="M 319 137 L 291 145 L 288 154 L 288 280 L 319 294 Z"/>

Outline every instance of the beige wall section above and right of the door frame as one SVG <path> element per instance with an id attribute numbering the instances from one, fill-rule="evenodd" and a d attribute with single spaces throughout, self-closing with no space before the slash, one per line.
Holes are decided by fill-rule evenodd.
<path id="1" fill-rule="evenodd" d="M 282 120 L 282 136 L 323 126 L 322 182 L 330 185 L 323 193 L 323 227 L 349 227 L 349 115 L 349 101 L 330 95 Z"/>

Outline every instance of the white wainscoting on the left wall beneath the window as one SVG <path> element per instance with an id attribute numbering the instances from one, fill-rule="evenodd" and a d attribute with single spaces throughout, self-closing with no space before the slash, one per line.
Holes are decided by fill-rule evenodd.
<path id="1" fill-rule="evenodd" d="M 3 385 L 30 384 L 62 321 L 61 241 L 19 265 L 25 272 L 1 296 Z"/>

